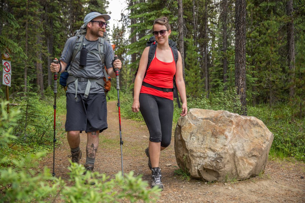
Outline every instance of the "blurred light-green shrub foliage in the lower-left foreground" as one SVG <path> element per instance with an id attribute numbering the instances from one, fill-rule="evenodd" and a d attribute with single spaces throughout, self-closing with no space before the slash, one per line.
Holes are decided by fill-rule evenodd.
<path id="1" fill-rule="evenodd" d="M 5 111 L 6 102 L 1 102 L 0 115 L 0 201 L 1 202 L 55 202 L 59 199 L 66 202 L 118 202 L 128 200 L 135 202 L 156 201 L 160 189 L 155 187 L 146 189 L 148 183 L 140 176 L 134 177 L 133 172 L 125 175 L 118 173 L 115 179 L 106 177 L 98 172 L 87 172 L 82 165 L 72 163 L 70 170 L 70 184 L 61 178 L 51 177 L 50 171 L 45 168 L 42 172 L 37 160 L 45 153 L 29 154 L 24 159 L 13 159 L 13 166 L 3 167 L 7 162 L 4 151 L 16 139 L 11 135 L 16 125 L 16 115 L 19 110 L 12 110 L 8 115 Z M 92 178 L 91 178 L 92 177 Z M 95 182 L 93 187 L 90 183 Z"/>

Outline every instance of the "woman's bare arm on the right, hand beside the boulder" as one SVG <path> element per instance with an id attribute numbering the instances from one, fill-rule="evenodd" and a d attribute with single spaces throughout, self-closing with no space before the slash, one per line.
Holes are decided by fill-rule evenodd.
<path id="1" fill-rule="evenodd" d="M 188 107 L 186 102 L 185 83 L 182 75 L 182 58 L 179 51 L 178 51 L 178 61 L 176 64 L 176 85 L 182 101 L 182 112 L 180 115 L 185 116 L 188 113 Z"/>

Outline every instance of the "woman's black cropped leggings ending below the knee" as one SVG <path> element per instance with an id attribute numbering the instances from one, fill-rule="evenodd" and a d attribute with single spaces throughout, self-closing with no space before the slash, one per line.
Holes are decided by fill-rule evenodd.
<path id="1" fill-rule="evenodd" d="M 140 93 L 140 111 L 149 131 L 151 142 L 170 145 L 173 125 L 174 103 L 160 96 Z"/>

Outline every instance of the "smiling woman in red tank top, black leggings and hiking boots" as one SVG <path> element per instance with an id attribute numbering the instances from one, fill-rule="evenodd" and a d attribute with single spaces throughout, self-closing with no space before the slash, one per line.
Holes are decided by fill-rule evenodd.
<path id="1" fill-rule="evenodd" d="M 149 47 L 146 47 L 140 59 L 138 73 L 135 79 L 134 102 L 132 111 L 141 111 L 149 130 L 149 144 L 145 149 L 148 165 L 152 170 L 152 187 L 163 188 L 161 170 L 159 168 L 160 151 L 170 145 L 173 123 L 173 92 L 163 92 L 151 87 L 142 86 L 148 83 L 162 88 L 173 88 L 173 76 L 182 100 L 181 116 L 187 114 L 185 84 L 182 76 L 182 59 L 178 51 L 177 64 L 168 44 L 171 30 L 166 17 L 154 21 L 153 35 L 156 37 L 157 47 L 154 58 L 146 71 Z M 146 72 L 146 75 L 145 75 Z"/>

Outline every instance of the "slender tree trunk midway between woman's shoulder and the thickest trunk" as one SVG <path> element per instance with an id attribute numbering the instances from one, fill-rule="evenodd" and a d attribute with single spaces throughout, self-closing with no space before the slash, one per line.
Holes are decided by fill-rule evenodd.
<path id="1" fill-rule="evenodd" d="M 207 14 L 208 2 L 205 0 L 204 3 L 204 45 L 203 45 L 203 54 L 204 54 L 204 86 L 206 91 L 206 98 L 209 98 L 209 68 L 208 68 L 208 14 Z"/>

